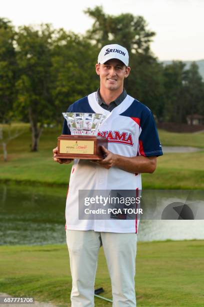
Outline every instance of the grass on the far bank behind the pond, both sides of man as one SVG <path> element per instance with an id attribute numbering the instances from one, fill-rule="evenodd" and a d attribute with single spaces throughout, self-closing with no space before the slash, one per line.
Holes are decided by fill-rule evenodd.
<path id="1" fill-rule="evenodd" d="M 52 160 L 58 129 L 47 128 L 41 135 L 39 151 L 30 152 L 31 135 L 25 132 L 9 142 L 8 162 L 0 155 L 0 181 L 67 185 L 71 165 L 59 165 Z M 204 133 L 170 133 L 159 131 L 163 145 L 185 145 L 203 148 L 203 151 L 165 154 L 157 159 L 153 174 L 143 174 L 145 189 L 203 189 L 204 188 Z"/>

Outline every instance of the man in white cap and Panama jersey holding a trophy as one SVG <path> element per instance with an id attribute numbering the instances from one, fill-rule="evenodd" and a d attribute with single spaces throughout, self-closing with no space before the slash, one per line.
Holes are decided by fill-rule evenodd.
<path id="1" fill-rule="evenodd" d="M 72 307 L 94 305 L 97 254 L 103 245 L 111 278 L 113 306 L 135 307 L 137 220 L 79 220 L 78 190 L 140 190 L 141 173 L 153 173 L 161 145 L 150 110 L 127 95 L 124 78 L 130 72 L 128 52 L 104 46 L 95 65 L 100 88 L 74 102 L 68 112 L 104 113 L 98 135 L 108 139 L 101 161 L 74 160 L 66 200 L 66 241 L 72 275 Z M 63 134 L 70 134 L 66 122 Z M 53 149 L 54 156 L 57 147 Z M 58 163 L 71 160 L 54 158 Z"/>

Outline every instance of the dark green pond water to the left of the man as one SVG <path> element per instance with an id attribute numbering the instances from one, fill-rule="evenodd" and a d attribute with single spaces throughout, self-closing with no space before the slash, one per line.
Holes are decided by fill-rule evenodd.
<path id="1" fill-rule="evenodd" d="M 65 242 L 66 189 L 0 185 L 0 245 Z"/>

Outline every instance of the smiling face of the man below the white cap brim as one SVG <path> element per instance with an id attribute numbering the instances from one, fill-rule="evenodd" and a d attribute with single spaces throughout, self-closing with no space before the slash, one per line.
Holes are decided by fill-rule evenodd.
<path id="1" fill-rule="evenodd" d="M 123 90 L 124 78 L 129 75 L 130 67 L 126 67 L 117 59 L 112 59 L 104 64 L 96 64 L 95 68 L 96 74 L 100 76 L 100 88 Z"/>

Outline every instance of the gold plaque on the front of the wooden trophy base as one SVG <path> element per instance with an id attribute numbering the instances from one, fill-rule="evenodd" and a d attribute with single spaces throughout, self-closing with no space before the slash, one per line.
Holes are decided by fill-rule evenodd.
<path id="1" fill-rule="evenodd" d="M 93 155 L 94 141 L 60 140 L 60 154 Z"/>

